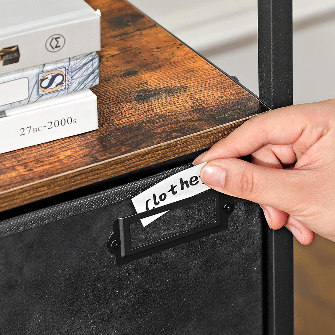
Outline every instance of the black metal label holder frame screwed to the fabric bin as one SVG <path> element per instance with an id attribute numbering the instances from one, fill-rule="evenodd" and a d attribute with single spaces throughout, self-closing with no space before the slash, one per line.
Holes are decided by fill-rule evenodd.
<path id="1" fill-rule="evenodd" d="M 214 222 L 187 230 L 159 241 L 148 243 L 140 247 L 131 248 L 129 227 L 132 222 L 211 197 L 215 198 L 216 218 Z M 114 220 L 114 232 L 108 240 L 108 249 L 115 256 L 116 265 L 125 264 L 159 251 L 163 251 L 186 242 L 194 241 L 215 232 L 227 229 L 228 217 L 233 208 L 234 205 L 230 197 L 214 190 L 208 190 L 193 197 L 176 201 L 172 204 L 167 204 L 146 212 L 119 218 Z M 145 227 L 143 227 L 143 229 L 145 229 Z"/>

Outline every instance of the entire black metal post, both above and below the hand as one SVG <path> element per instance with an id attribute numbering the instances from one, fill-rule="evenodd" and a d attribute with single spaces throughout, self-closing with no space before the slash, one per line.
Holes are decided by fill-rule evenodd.
<path id="1" fill-rule="evenodd" d="M 258 0 L 259 99 L 271 109 L 293 104 L 292 0 Z M 293 326 L 293 238 L 264 222 L 265 334 Z"/>

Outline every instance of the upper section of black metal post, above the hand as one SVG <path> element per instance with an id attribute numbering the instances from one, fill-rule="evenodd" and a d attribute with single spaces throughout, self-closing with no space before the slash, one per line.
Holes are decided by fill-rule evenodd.
<path id="1" fill-rule="evenodd" d="M 293 104 L 292 0 L 258 0 L 258 86 L 271 109 Z"/>

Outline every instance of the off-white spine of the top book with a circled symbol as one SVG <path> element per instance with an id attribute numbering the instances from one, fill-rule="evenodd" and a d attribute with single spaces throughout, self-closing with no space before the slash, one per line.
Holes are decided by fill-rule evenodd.
<path id="1" fill-rule="evenodd" d="M 11 50 L 0 61 L 0 73 L 24 69 L 100 50 L 99 12 L 50 26 L 0 37 L 0 49 Z"/>

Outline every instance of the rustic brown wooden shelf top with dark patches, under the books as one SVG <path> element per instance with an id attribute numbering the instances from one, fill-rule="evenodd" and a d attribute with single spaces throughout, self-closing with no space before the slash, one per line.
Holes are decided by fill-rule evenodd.
<path id="1" fill-rule="evenodd" d="M 100 128 L 1 154 L 0 211 L 209 147 L 268 110 L 129 3 L 87 2 L 102 13 Z"/>

